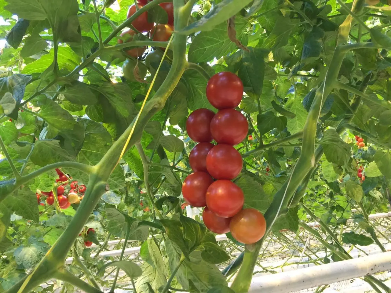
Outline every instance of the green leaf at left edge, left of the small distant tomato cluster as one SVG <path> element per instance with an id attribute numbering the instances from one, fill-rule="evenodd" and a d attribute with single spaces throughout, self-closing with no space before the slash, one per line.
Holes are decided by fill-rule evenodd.
<path id="1" fill-rule="evenodd" d="M 10 214 L 15 212 L 25 219 L 38 222 L 39 210 L 35 192 L 25 186 L 22 189 L 14 191 L 0 202 L 0 211 L 5 211 Z"/>

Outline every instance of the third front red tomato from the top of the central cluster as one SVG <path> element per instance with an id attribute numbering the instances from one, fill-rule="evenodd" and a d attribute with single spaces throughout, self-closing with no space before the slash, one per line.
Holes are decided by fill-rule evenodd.
<path id="1" fill-rule="evenodd" d="M 242 156 L 231 145 L 218 144 L 206 156 L 206 169 L 215 179 L 234 179 L 242 167 Z"/>

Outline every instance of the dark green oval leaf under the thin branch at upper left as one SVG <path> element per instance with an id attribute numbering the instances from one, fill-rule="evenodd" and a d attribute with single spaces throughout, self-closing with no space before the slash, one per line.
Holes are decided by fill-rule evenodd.
<path id="1" fill-rule="evenodd" d="M 67 86 L 63 91 L 65 98 L 77 105 L 93 105 L 98 102 L 97 97 L 90 87 L 83 82 L 73 82 L 71 86 Z"/>

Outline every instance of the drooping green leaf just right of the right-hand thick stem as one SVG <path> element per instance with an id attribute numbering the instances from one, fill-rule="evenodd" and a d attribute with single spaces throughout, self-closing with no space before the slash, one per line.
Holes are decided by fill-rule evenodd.
<path id="1" fill-rule="evenodd" d="M 347 165 L 350 159 L 350 145 L 345 143 L 334 129 L 326 130 L 320 141 L 327 161 L 338 166 Z"/>

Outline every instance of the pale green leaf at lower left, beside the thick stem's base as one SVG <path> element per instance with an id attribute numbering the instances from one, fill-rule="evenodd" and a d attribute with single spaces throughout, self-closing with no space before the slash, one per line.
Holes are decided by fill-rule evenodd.
<path id="1" fill-rule="evenodd" d="M 42 241 L 35 241 L 27 246 L 21 245 L 14 251 L 14 257 L 17 264 L 22 264 L 25 269 L 34 268 L 36 264 L 43 259 L 49 246 Z"/>

